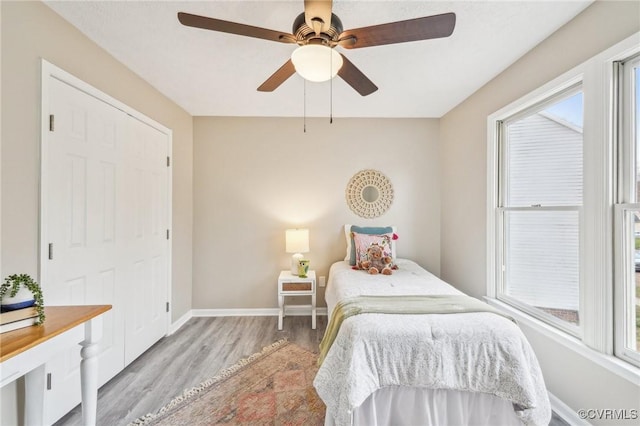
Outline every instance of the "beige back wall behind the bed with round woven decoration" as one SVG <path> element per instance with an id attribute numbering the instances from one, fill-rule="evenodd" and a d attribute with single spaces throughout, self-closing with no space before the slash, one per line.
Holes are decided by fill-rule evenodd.
<path id="1" fill-rule="evenodd" d="M 284 231 L 308 227 L 319 275 L 344 258 L 343 225 L 396 225 L 398 254 L 439 273 L 438 120 L 194 119 L 193 308 L 273 308 L 289 268 Z M 345 188 L 378 169 L 395 199 L 377 219 L 349 210 Z M 319 304 L 324 305 L 322 289 Z"/>

